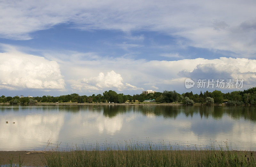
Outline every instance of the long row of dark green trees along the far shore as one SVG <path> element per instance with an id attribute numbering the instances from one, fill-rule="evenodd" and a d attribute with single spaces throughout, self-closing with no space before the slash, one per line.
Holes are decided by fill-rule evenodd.
<path id="1" fill-rule="evenodd" d="M 42 97 L 22 97 L 19 96 L 8 96 L 2 95 L 0 97 L 0 103 L 10 103 L 10 104 L 34 104 L 36 102 L 77 102 L 77 103 L 100 103 L 100 102 L 114 102 L 114 103 L 124 103 L 124 102 L 144 102 L 144 100 L 155 99 L 158 103 L 172 103 L 172 102 L 182 102 L 183 104 L 193 105 L 196 103 L 206 103 L 206 104 L 256 104 L 256 87 L 249 88 L 244 91 L 233 91 L 228 93 L 222 93 L 221 91 L 215 90 L 213 92 L 205 91 L 200 94 L 193 94 L 193 92 L 187 92 L 183 94 L 174 91 L 156 92 L 149 94 L 136 94 L 136 95 L 124 95 L 117 94 L 115 91 L 109 90 L 105 91 L 103 95 L 78 95 L 76 93 L 70 95 L 61 96 L 42 96 Z"/>

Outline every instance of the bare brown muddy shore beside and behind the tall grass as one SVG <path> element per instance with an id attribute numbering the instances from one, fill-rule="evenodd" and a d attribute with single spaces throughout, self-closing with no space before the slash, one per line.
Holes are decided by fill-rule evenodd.
<path id="1" fill-rule="evenodd" d="M 138 152 L 134 152 L 135 150 L 125 151 L 125 150 L 112 150 L 112 153 L 114 154 L 140 154 L 141 152 L 147 152 L 147 150 L 138 150 Z M 155 150 L 154 150 L 155 151 Z M 94 151 L 47 151 L 46 153 L 32 153 L 28 154 L 29 151 L 0 151 L 0 165 L 6 165 L 10 164 L 10 160 L 12 159 L 13 164 L 19 164 L 20 162 L 23 162 L 22 165 L 27 166 L 45 166 L 45 163 L 47 162 L 46 157 L 52 158 L 52 156 L 60 156 L 60 155 L 76 155 L 78 152 L 84 152 L 85 154 L 92 154 Z M 253 155 L 255 158 L 256 152 L 255 151 L 223 151 L 228 155 L 229 154 L 236 154 L 238 156 L 243 156 L 245 159 L 246 156 L 250 157 L 250 155 Z M 98 151 L 98 154 L 100 156 L 105 156 L 106 151 Z M 206 154 L 220 154 L 221 150 L 167 150 L 168 154 L 171 155 L 180 155 L 180 156 L 187 156 L 190 158 L 194 158 L 195 156 L 204 157 Z M 163 154 L 161 150 L 158 150 L 155 152 L 155 154 L 158 154 L 159 156 Z M 245 156 L 246 155 L 246 156 Z M 61 157 L 61 156 L 60 156 Z"/>

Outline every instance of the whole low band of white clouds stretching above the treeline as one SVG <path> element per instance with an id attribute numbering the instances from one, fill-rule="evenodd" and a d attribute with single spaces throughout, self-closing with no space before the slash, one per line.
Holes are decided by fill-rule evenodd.
<path id="1" fill-rule="evenodd" d="M 62 75 L 68 90 L 83 93 L 102 93 L 109 89 L 124 93 L 136 90 L 139 93 L 156 85 L 158 91 L 175 89 L 183 92 L 186 78 L 244 79 L 244 89 L 254 87 L 256 83 L 256 60 L 248 58 L 148 61 L 102 57 L 96 53 L 63 52 L 43 54 L 46 58 L 17 51 L 1 53 L 0 88 L 62 90 L 65 88 Z"/>

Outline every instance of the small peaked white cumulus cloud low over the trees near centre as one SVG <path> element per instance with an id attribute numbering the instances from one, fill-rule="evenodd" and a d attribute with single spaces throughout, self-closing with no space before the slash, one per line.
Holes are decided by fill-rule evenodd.
<path id="1" fill-rule="evenodd" d="M 139 90 L 143 89 L 136 87 L 129 83 L 123 84 L 123 78 L 120 74 L 110 71 L 104 75 L 103 72 L 100 72 L 97 77 L 92 77 L 89 79 L 81 79 L 73 81 L 74 84 L 71 85 L 74 90 L 102 90 L 103 88 L 114 88 L 115 90 L 122 91 L 124 89 L 129 90 Z"/>

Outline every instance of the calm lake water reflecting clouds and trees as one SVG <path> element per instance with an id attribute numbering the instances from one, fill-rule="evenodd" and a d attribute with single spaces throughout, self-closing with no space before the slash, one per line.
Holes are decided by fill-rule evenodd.
<path id="1" fill-rule="evenodd" d="M 140 143 L 164 140 L 180 149 L 187 145 L 210 147 L 213 142 L 224 146 L 223 141 L 228 141 L 232 149 L 256 150 L 256 109 L 254 106 L 0 106 L 0 150 L 44 150 L 49 139 L 52 147 L 61 142 L 61 148 L 83 143 L 93 146 L 106 140 L 112 144 L 124 140 Z"/>

